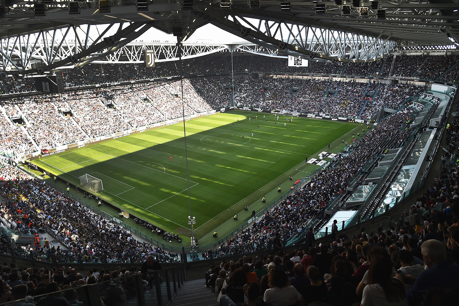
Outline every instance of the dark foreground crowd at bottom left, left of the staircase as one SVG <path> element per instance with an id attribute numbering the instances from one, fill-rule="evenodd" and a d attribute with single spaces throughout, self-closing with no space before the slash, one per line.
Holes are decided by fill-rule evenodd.
<path id="1" fill-rule="evenodd" d="M 90 300 L 99 305 L 120 306 L 130 305 L 133 300 L 135 304 L 143 292 L 146 298 L 156 300 L 151 290 L 155 286 L 152 272 L 159 270 L 162 270 L 161 264 L 153 256 L 148 256 L 141 267 L 94 267 L 83 273 L 72 267 L 19 267 L 14 262 L 4 262 L 0 265 L 0 303 L 6 306 L 82 306 Z M 161 271 L 158 274 L 161 275 Z M 139 279 L 140 284 L 134 278 Z M 161 276 L 159 282 L 163 283 Z M 150 295 L 147 297 L 147 294 Z"/>

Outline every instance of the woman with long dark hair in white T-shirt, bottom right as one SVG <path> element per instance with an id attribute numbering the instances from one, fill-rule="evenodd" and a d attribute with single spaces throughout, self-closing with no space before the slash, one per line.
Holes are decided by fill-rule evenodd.
<path id="1" fill-rule="evenodd" d="M 371 259 L 361 305 L 408 306 L 404 285 L 392 277 L 392 262 L 387 256 Z"/>

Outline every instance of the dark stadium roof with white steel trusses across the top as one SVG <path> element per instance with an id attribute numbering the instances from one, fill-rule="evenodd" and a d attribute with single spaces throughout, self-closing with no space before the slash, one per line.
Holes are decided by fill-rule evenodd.
<path id="1" fill-rule="evenodd" d="M 279 55 L 329 61 L 372 61 L 407 46 L 459 47 L 458 0 L 39 1 L 0 0 L 4 70 L 16 61 L 15 69 L 31 73 L 26 58 L 34 53 L 26 51 L 31 46 L 45 50 L 42 61 L 52 70 L 82 59 L 100 60 L 150 28 L 186 42 L 207 24 Z M 69 35 L 75 47 L 56 51 L 72 39 Z"/>

